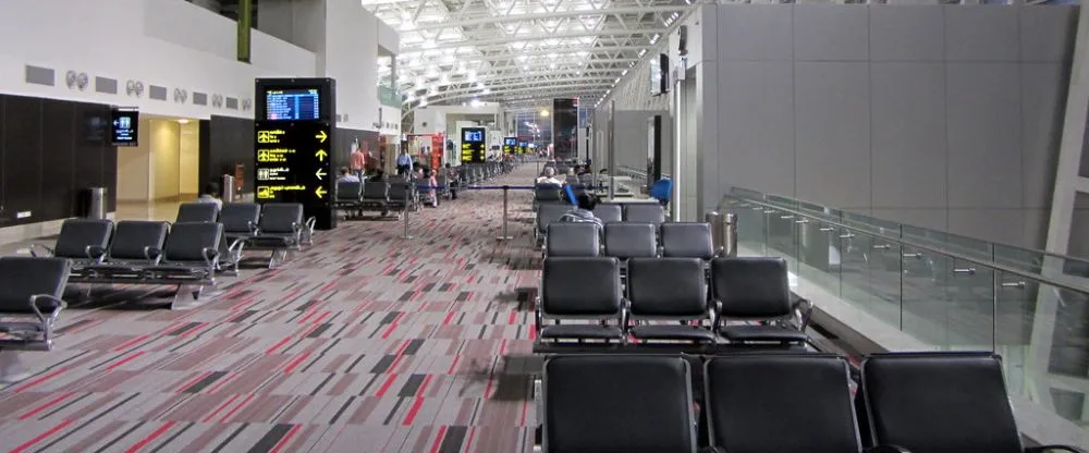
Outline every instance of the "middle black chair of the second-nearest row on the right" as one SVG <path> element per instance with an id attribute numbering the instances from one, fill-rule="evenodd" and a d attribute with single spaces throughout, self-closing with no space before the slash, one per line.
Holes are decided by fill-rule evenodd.
<path id="1" fill-rule="evenodd" d="M 626 287 L 628 318 L 635 322 L 629 329 L 632 336 L 641 341 L 714 342 L 714 314 L 707 301 L 707 273 L 699 259 L 632 258 L 627 262 Z M 702 325 L 705 320 L 707 326 Z"/>

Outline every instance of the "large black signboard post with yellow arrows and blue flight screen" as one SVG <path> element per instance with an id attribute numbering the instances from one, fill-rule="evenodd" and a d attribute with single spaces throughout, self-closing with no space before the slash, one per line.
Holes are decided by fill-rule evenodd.
<path id="1" fill-rule="evenodd" d="M 335 81 L 258 78 L 254 131 L 256 201 L 301 203 L 315 228 L 337 228 L 332 208 Z"/>

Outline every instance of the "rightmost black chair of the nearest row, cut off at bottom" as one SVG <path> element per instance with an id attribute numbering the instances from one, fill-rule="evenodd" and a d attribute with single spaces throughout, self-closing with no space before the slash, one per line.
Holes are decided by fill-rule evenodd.
<path id="1" fill-rule="evenodd" d="M 874 354 L 861 365 L 856 394 L 868 444 L 914 453 L 1023 453 L 1084 450 L 1025 448 L 992 353 Z"/>

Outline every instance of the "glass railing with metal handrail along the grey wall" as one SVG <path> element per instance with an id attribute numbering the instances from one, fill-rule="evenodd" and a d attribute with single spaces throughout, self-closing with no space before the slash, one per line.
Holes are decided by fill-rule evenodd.
<path id="1" fill-rule="evenodd" d="M 996 352 L 1015 400 L 1089 424 L 1084 260 L 741 191 L 720 212 L 739 255 L 784 257 L 798 294 L 882 347 Z"/>

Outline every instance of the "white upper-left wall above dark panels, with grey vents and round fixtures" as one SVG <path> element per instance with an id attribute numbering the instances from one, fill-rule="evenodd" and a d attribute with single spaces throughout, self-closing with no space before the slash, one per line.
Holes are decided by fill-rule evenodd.
<path id="1" fill-rule="evenodd" d="M 147 113 L 187 118 L 248 118 L 252 111 L 213 107 L 213 95 L 252 99 L 254 78 L 314 76 L 313 52 L 253 34 L 253 64 L 235 61 L 235 23 L 179 0 L 3 0 L 0 2 L 0 93 L 135 106 Z M 54 70 L 56 86 L 25 83 L 25 65 Z M 85 72 L 85 90 L 70 89 L 65 73 Z M 118 81 L 119 94 L 95 93 L 95 77 Z M 140 97 L 126 81 L 144 83 Z M 168 100 L 149 97 L 150 85 Z M 175 102 L 175 88 L 187 91 Z M 208 106 L 193 103 L 194 93 Z M 241 105 L 241 101 L 240 101 Z"/>

